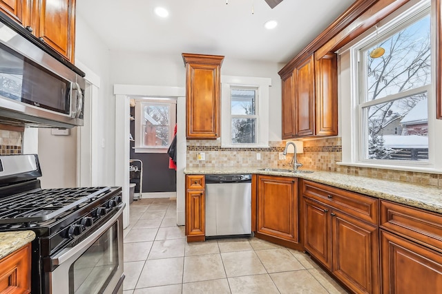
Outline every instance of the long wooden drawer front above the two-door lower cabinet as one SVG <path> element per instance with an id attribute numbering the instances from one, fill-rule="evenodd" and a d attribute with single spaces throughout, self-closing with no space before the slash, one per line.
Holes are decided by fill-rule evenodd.
<path id="1" fill-rule="evenodd" d="M 378 224 L 378 200 L 317 182 L 302 181 L 302 194 L 351 216 Z"/>

